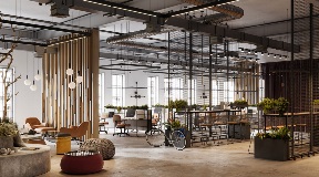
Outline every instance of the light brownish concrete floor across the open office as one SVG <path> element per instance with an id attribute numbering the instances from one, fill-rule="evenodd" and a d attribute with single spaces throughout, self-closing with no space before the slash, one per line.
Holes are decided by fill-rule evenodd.
<path id="1" fill-rule="evenodd" d="M 143 134 L 141 134 L 143 135 Z M 318 177 L 319 155 L 288 162 L 256 159 L 248 154 L 250 142 L 214 146 L 195 144 L 195 147 L 176 150 L 174 147 L 151 147 L 145 137 L 119 137 L 111 139 L 116 148 L 113 159 L 104 160 L 104 169 L 86 176 L 109 177 Z M 76 147 L 72 147 L 76 148 Z M 250 148 L 250 152 L 254 148 Z M 52 168 L 41 177 L 72 176 L 61 173 L 62 155 L 52 150 Z"/>

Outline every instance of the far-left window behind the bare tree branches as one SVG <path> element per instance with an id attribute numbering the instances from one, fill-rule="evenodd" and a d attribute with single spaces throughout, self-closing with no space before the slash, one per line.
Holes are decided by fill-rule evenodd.
<path id="1" fill-rule="evenodd" d="M 8 73 L 7 73 L 7 80 L 6 82 L 12 82 L 13 81 L 13 75 L 14 73 L 14 70 L 13 69 L 9 69 L 8 70 Z M 3 83 L 3 79 L 4 79 L 4 74 L 6 74 L 6 67 L 0 67 L 0 115 L 2 116 L 3 115 L 3 106 L 4 106 L 4 86 L 6 84 Z M 10 85 L 9 88 L 8 88 L 8 97 L 7 98 L 10 98 L 8 102 L 7 102 L 7 116 L 8 118 L 14 118 L 13 116 L 13 105 L 14 105 L 14 84 Z M 12 97 L 11 97 L 12 96 Z M 13 119 L 14 121 L 14 119 Z"/>

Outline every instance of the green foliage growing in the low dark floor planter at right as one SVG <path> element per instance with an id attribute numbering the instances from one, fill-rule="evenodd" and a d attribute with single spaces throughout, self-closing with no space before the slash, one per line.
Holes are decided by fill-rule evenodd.
<path id="1" fill-rule="evenodd" d="M 285 139 L 289 140 L 290 137 L 290 131 L 287 127 L 282 128 L 271 128 L 270 132 L 267 133 L 258 133 L 256 137 L 263 138 L 271 138 L 271 139 Z"/>

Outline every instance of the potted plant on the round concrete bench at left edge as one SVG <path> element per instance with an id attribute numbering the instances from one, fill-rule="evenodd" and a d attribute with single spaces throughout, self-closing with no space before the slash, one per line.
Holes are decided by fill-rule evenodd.
<path id="1" fill-rule="evenodd" d="M 0 148 L 12 148 L 13 136 L 18 134 L 17 124 L 8 118 L 0 119 Z"/>

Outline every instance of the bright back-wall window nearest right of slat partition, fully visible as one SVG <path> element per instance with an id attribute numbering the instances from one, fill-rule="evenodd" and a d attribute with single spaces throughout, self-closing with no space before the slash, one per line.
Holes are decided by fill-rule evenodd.
<path id="1" fill-rule="evenodd" d="M 122 75 L 112 75 L 112 104 L 114 106 L 124 106 L 125 105 L 125 76 Z"/>

